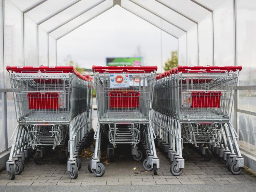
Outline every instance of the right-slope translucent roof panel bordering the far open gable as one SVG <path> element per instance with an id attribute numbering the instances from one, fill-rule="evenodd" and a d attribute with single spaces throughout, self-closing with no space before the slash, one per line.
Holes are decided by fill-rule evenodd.
<path id="1" fill-rule="evenodd" d="M 145 10 L 144 8 L 132 3 L 129 0 L 122 0 L 121 6 L 134 13 L 135 15 L 139 16 L 140 18 L 148 21 L 149 23 L 155 25 L 156 27 L 162 29 L 166 33 L 179 38 L 186 32 L 182 31 L 181 29 L 175 27 L 174 25 L 162 20 L 160 17 L 156 16 L 155 14 Z"/>

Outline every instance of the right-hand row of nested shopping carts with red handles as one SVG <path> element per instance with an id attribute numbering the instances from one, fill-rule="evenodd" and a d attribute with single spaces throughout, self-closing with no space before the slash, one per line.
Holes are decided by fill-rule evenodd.
<path id="1" fill-rule="evenodd" d="M 156 77 L 152 112 L 157 145 L 180 175 L 190 143 L 209 161 L 218 156 L 228 170 L 240 174 L 244 165 L 230 116 L 239 67 L 178 66 Z M 184 157 L 184 158 L 183 158 Z"/>

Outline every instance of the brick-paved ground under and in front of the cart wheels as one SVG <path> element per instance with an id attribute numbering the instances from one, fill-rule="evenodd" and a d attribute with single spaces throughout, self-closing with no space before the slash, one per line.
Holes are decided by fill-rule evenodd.
<path id="1" fill-rule="evenodd" d="M 181 184 L 199 184 L 193 187 L 193 190 L 200 188 L 200 184 L 204 184 L 204 188 L 212 188 L 212 185 L 205 184 L 241 184 L 238 186 L 247 186 L 248 190 L 256 183 L 256 172 L 244 167 L 241 175 L 232 175 L 228 172 L 225 164 L 218 159 L 213 158 L 210 162 L 205 162 L 203 158 L 189 150 L 190 159 L 185 162 L 185 169 L 182 175 L 173 176 L 169 171 L 170 162 L 160 151 L 159 175 L 154 176 L 151 172 L 145 172 L 142 163 L 135 162 L 129 155 L 122 154 L 115 156 L 115 161 L 104 163 L 106 173 L 103 177 L 95 177 L 94 174 L 87 170 L 89 159 L 81 158 L 82 168 L 76 180 L 71 180 L 66 171 L 67 166 L 58 163 L 58 154 L 55 152 L 51 156 L 48 155 L 41 165 L 36 165 L 33 160 L 25 164 L 24 171 L 16 176 L 15 180 L 8 179 L 8 173 L 2 171 L 0 173 L 1 186 L 89 186 L 89 185 L 164 185 L 175 184 L 175 188 L 183 187 Z M 103 160 L 104 161 L 104 160 Z M 135 170 L 133 170 L 136 168 Z M 227 187 L 227 186 L 226 186 Z M 256 186 L 252 187 L 255 189 Z M 130 188 L 130 187 L 129 187 Z M 173 188 L 173 187 L 172 187 Z M 188 187 L 185 187 L 188 188 Z M 0 187 L 0 190 L 6 191 L 13 188 Z M 19 188 L 20 189 L 20 188 Z M 33 188 L 32 188 L 33 189 Z M 40 188 L 34 188 L 40 191 Z M 41 188 L 42 189 L 42 188 Z M 56 188 L 49 188 L 53 190 Z M 63 189 L 63 188 L 62 188 Z M 67 188 L 68 189 L 68 188 Z M 74 189 L 79 189 L 74 187 Z M 107 188 L 106 188 L 107 189 Z M 126 188 L 128 189 L 128 188 Z M 157 188 L 156 188 L 157 189 Z M 164 189 L 164 188 L 163 188 Z M 243 188 L 245 189 L 245 188 Z M 24 188 L 24 190 L 27 190 Z M 191 188 L 192 190 L 192 188 Z"/>

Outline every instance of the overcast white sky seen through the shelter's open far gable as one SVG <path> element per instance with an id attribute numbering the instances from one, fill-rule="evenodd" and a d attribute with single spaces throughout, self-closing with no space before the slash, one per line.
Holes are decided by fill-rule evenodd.
<path id="1" fill-rule="evenodd" d="M 161 30 L 116 5 L 57 41 L 58 65 L 68 55 L 80 67 L 106 65 L 106 57 L 138 56 L 161 72 Z M 162 31 L 162 65 L 178 49 L 176 38 Z M 163 69 L 162 69 L 163 70 Z"/>

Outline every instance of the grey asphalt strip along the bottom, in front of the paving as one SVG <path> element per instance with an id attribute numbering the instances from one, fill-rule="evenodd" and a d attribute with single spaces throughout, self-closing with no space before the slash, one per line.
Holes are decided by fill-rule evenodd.
<path id="1" fill-rule="evenodd" d="M 0 192 L 12 192 L 12 191 L 36 191 L 36 192 L 112 192 L 112 191 L 123 191 L 123 192 L 148 192 L 148 191 L 172 191 L 172 192 L 234 192 L 234 191 L 256 191 L 256 182 L 240 183 L 240 184 L 188 184 L 188 185 L 145 185 L 145 186 L 4 186 L 0 187 Z"/>

